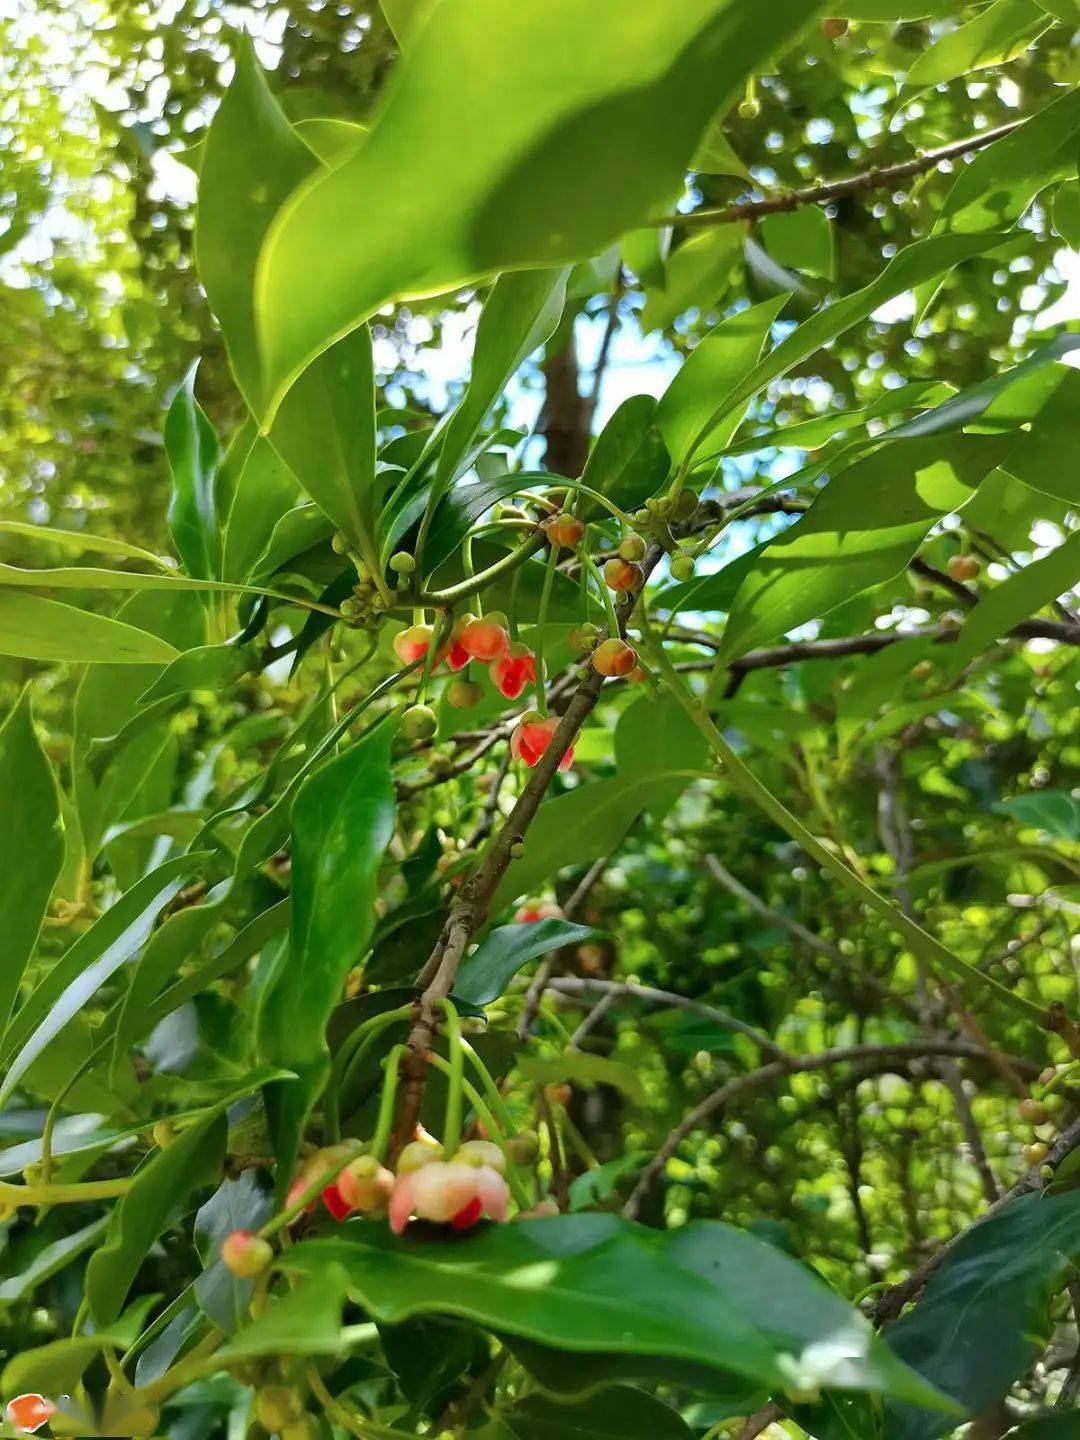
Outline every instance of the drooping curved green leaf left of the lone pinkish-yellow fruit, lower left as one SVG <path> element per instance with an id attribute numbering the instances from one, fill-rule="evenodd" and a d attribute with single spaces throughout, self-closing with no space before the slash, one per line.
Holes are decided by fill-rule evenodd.
<path id="1" fill-rule="evenodd" d="M 96 1325 L 117 1319 L 140 1266 L 177 1205 L 220 1175 L 226 1133 L 223 1110 L 210 1110 L 135 1171 L 131 1188 L 112 1211 L 108 1240 L 86 1266 L 86 1303 Z"/>

